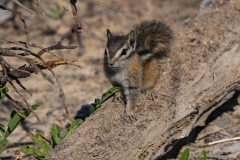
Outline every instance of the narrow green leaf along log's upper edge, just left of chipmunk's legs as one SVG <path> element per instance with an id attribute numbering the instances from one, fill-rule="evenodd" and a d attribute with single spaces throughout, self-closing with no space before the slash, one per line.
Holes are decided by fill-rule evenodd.
<path id="1" fill-rule="evenodd" d="M 103 102 L 105 102 L 108 98 L 110 98 L 112 95 L 114 95 L 116 92 L 121 91 L 121 87 L 113 87 L 109 89 L 107 92 L 105 92 L 102 95 L 102 99 L 95 99 L 94 103 L 90 104 L 89 106 L 89 113 L 90 115 L 98 109 Z"/>

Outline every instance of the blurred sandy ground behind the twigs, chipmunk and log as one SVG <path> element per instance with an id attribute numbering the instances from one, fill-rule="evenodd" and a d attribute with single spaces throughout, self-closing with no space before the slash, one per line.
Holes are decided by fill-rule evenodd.
<path id="1" fill-rule="evenodd" d="M 70 10 L 70 6 L 62 1 L 42 1 L 42 7 L 47 13 L 43 17 L 36 7 L 36 4 L 32 1 L 23 1 L 23 3 L 34 11 L 34 15 L 30 16 L 28 13 L 23 12 L 24 19 L 30 30 L 30 38 L 33 43 L 47 47 L 56 44 L 61 37 L 68 32 L 74 26 L 74 20 L 70 11 L 64 11 L 62 5 Z M 134 24 L 148 19 L 157 19 L 166 22 L 168 25 L 183 24 L 194 18 L 199 12 L 201 0 L 149 0 L 143 1 L 81 1 L 77 3 L 78 15 L 83 23 L 83 32 L 80 35 L 74 34 L 64 41 L 66 45 L 77 45 L 78 49 L 75 50 L 58 50 L 54 53 L 61 55 L 66 59 L 78 58 L 76 64 L 83 66 L 83 69 L 79 69 L 74 66 L 59 66 L 54 69 L 58 78 L 61 81 L 66 103 L 68 104 L 70 117 L 65 116 L 65 110 L 63 103 L 59 96 L 59 88 L 57 83 L 51 85 L 48 81 L 41 77 L 41 75 L 31 75 L 31 77 L 22 80 L 22 83 L 26 88 L 33 93 L 33 97 L 20 91 L 24 94 L 30 104 L 40 104 L 41 107 L 36 111 L 41 119 L 41 122 L 37 122 L 36 118 L 29 116 L 21 126 L 19 126 L 13 134 L 9 137 L 11 141 L 26 144 L 31 143 L 31 139 L 27 136 L 27 132 L 32 132 L 33 129 L 37 129 L 45 137 L 49 137 L 49 130 L 53 123 L 57 123 L 62 130 L 74 119 L 77 111 L 82 105 L 93 102 L 95 98 L 100 98 L 101 95 L 107 91 L 111 85 L 105 78 L 102 69 L 102 56 L 106 43 L 106 29 L 109 28 L 113 33 L 125 34 Z M 62 13 L 62 17 L 56 19 L 51 18 L 50 8 L 55 8 Z M 6 11 L 1 15 L 7 14 Z M 0 36 L 9 40 L 26 41 L 26 36 L 23 31 L 23 26 L 18 18 L 7 19 L 1 21 L 0 24 Z M 5 43 L 1 44 L 1 47 L 9 46 Z M 33 48 L 32 48 L 33 49 Z M 37 49 L 33 49 L 37 52 Z M 45 60 L 55 59 L 48 53 L 44 55 Z M 20 66 L 24 62 L 19 61 L 16 58 L 6 58 L 6 60 L 13 66 Z M 51 73 L 45 71 L 51 76 Z M 53 77 L 52 77 L 53 78 Z M 13 88 L 7 85 L 10 89 L 10 95 L 19 102 L 20 106 L 25 107 L 24 102 L 14 92 Z M 209 133 L 209 127 L 213 131 L 226 128 L 229 125 L 236 124 L 237 118 L 239 118 L 240 107 L 238 102 L 233 100 L 228 105 L 232 106 L 230 111 L 222 111 L 218 114 L 219 117 L 210 118 L 207 127 L 196 129 L 193 134 L 200 133 L 204 135 Z M 0 105 L 0 122 L 7 125 L 7 120 L 12 111 L 12 106 L 7 99 Z M 224 112 L 224 113 L 223 113 Z M 222 124 L 224 123 L 224 125 Z M 239 126 L 237 126 L 239 131 Z M 217 132 L 208 136 L 208 140 L 211 141 L 216 136 L 218 139 L 223 138 L 227 134 L 233 133 L 224 131 L 224 133 Z M 198 137 L 201 135 L 198 135 Z M 213 137 L 211 137 L 213 136 Z M 214 137 L 215 136 L 215 137 Z M 196 138 L 196 135 L 193 137 Z M 194 147 L 194 138 L 184 139 L 182 144 L 190 144 L 192 152 L 200 154 L 203 148 Z M 200 139 L 195 143 L 203 143 Z M 185 146 L 186 147 L 186 146 Z M 0 155 L 0 159 L 5 157 L 11 159 L 14 155 L 14 151 L 17 149 L 12 144 L 9 144 L 7 150 Z M 177 147 L 171 155 L 177 156 L 181 145 Z M 217 153 L 217 148 L 215 149 Z M 211 150 L 211 148 L 206 148 Z M 214 151 L 215 151 L 214 150 Z M 215 153 L 215 152 L 214 152 Z M 238 153 L 238 154 L 237 154 Z M 193 153 L 194 154 L 194 153 Z M 236 158 L 239 152 L 230 154 L 229 157 Z M 171 157 L 171 156 L 167 156 Z M 26 159 L 28 159 L 26 157 Z"/>

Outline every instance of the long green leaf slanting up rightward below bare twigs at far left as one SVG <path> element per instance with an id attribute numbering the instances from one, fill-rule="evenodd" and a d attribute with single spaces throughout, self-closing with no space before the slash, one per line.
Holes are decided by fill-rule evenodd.
<path id="1" fill-rule="evenodd" d="M 32 109 L 37 109 L 38 107 L 38 104 L 32 105 Z M 25 117 L 27 117 L 30 113 L 31 110 L 20 112 L 20 114 Z M 13 111 L 10 115 L 10 119 L 8 120 L 8 128 L 5 132 L 4 138 L 6 139 L 24 119 L 25 118 L 20 117 L 16 111 Z"/>

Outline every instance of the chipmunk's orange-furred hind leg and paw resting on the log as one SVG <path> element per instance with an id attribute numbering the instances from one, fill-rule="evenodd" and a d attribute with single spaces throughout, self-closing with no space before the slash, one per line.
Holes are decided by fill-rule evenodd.
<path id="1" fill-rule="evenodd" d="M 142 91 L 145 93 L 147 99 L 154 100 L 157 95 L 154 93 L 153 88 L 159 78 L 159 66 L 156 59 L 150 59 L 144 63 L 143 71 L 143 87 Z"/>

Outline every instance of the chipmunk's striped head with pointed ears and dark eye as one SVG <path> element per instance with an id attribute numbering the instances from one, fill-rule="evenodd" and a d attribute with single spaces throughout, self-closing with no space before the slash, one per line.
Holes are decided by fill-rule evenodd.
<path id="1" fill-rule="evenodd" d="M 104 63 L 112 69 L 124 67 L 134 52 L 133 31 L 126 36 L 115 36 L 107 29 L 107 46 L 104 53 Z"/>

